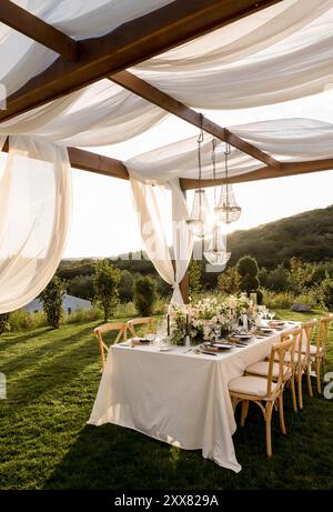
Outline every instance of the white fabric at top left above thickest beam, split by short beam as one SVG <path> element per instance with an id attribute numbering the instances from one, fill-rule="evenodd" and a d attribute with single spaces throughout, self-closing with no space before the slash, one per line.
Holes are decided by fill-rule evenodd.
<path id="1" fill-rule="evenodd" d="M 17 0 L 28 11 L 77 40 L 103 36 L 122 23 L 170 3 L 171 0 Z M 0 26 L 0 82 L 11 94 L 59 56 Z"/>

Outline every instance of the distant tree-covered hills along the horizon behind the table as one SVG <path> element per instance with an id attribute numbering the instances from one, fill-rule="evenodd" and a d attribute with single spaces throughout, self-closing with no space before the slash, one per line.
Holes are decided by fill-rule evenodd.
<path id="1" fill-rule="evenodd" d="M 231 265 L 244 254 L 256 258 L 260 267 L 275 268 L 292 257 L 303 261 L 320 262 L 333 259 L 333 205 L 312 210 L 297 215 L 250 230 L 235 231 L 228 237 Z M 135 254 L 137 255 L 137 254 Z M 121 270 L 142 274 L 154 273 L 149 260 L 120 255 L 113 264 Z M 93 273 L 97 258 L 63 260 L 58 274 L 64 279 Z M 208 281 L 214 280 L 211 275 Z"/>

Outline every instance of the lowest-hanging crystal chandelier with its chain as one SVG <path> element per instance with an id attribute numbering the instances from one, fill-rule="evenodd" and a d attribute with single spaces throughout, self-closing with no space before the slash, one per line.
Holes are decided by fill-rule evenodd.
<path id="1" fill-rule="evenodd" d="M 216 183 L 216 139 L 212 140 L 212 162 L 213 162 L 213 179 Z M 216 207 L 216 185 L 214 187 L 214 207 Z M 212 237 L 211 237 L 211 245 L 208 251 L 203 253 L 206 261 L 212 265 L 221 265 L 225 267 L 231 253 L 226 251 L 226 244 L 224 243 L 224 235 L 221 232 L 220 223 L 218 219 L 215 219 L 213 229 L 212 229 Z"/>

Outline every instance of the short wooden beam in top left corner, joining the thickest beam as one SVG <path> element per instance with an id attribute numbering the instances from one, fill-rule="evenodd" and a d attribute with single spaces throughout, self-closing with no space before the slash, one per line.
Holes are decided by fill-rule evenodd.
<path id="1" fill-rule="evenodd" d="M 78 42 L 9 0 L 1 0 L 0 21 L 64 59 L 75 61 Z"/>

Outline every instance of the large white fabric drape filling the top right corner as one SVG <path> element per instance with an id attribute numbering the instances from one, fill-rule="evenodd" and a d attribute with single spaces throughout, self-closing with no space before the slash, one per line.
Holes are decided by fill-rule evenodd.
<path id="1" fill-rule="evenodd" d="M 133 71 L 191 107 L 242 109 L 322 92 L 332 57 L 332 0 L 284 1 Z"/>

